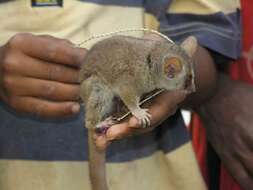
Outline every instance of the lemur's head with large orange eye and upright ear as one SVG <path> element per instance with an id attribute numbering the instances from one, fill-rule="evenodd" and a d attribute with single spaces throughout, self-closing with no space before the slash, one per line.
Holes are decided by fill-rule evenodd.
<path id="1" fill-rule="evenodd" d="M 193 55 L 197 50 L 197 40 L 190 36 L 180 45 L 162 41 L 150 53 L 156 63 L 156 75 L 166 90 L 195 90 Z"/>

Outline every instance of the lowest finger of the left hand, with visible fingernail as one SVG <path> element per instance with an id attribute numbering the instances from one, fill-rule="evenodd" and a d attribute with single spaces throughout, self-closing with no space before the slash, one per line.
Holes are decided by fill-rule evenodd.
<path id="1" fill-rule="evenodd" d="M 80 110 L 75 102 L 50 102 L 33 97 L 13 97 L 9 104 L 18 112 L 48 118 L 69 116 Z"/>

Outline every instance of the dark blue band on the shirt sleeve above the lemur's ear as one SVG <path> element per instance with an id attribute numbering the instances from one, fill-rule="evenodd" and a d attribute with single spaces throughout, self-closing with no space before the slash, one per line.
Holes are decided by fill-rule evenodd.
<path id="1" fill-rule="evenodd" d="M 240 12 L 225 15 L 167 14 L 161 22 L 160 31 L 175 41 L 190 35 L 209 49 L 230 58 L 238 58 L 241 52 Z"/>

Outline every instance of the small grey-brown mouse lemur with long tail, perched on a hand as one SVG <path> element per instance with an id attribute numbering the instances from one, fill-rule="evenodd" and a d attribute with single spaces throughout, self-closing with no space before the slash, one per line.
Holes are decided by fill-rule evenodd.
<path id="1" fill-rule="evenodd" d="M 151 116 L 139 105 L 141 96 L 156 89 L 194 91 L 192 56 L 197 40 L 181 45 L 167 40 L 113 36 L 95 44 L 80 71 L 81 98 L 89 135 L 89 170 L 93 190 L 108 190 L 105 151 L 93 140 L 96 126 L 113 109 L 113 98 L 122 100 L 143 127 Z"/>

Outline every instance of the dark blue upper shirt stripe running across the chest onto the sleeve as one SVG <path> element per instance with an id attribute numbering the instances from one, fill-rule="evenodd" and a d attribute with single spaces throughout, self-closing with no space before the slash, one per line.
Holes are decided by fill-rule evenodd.
<path id="1" fill-rule="evenodd" d="M 144 7 L 160 22 L 160 31 L 175 41 L 189 35 L 197 37 L 199 43 L 230 58 L 238 58 L 241 52 L 240 11 L 231 14 L 169 14 L 171 0 L 81 0 L 103 5 Z"/>

